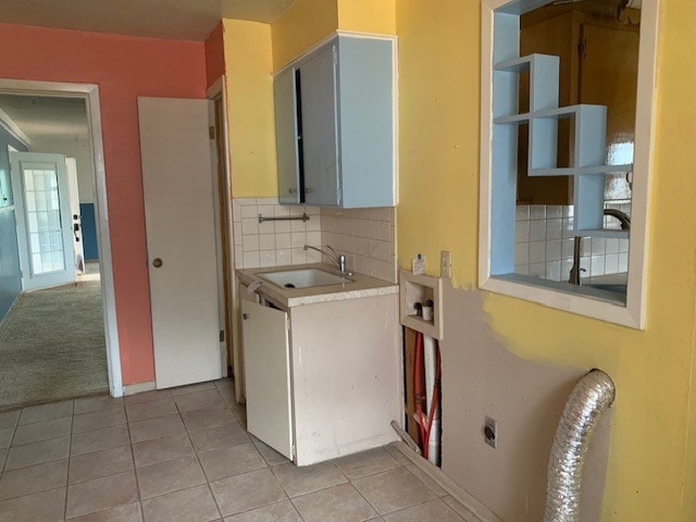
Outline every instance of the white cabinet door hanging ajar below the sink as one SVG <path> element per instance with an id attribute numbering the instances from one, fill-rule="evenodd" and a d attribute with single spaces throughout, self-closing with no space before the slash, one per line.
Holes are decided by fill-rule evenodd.
<path id="1" fill-rule="evenodd" d="M 241 301 L 247 430 L 293 459 L 287 313 Z"/>

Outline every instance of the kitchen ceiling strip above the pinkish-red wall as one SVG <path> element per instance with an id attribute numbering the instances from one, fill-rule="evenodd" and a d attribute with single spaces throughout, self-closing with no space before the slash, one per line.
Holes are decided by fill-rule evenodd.
<path id="1" fill-rule="evenodd" d="M 271 23 L 293 0 L 0 0 L 0 22 L 203 41 L 220 18 Z"/>

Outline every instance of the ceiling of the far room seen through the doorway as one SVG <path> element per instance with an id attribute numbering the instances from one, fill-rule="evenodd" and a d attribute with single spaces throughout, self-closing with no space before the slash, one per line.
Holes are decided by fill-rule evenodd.
<path id="1" fill-rule="evenodd" d="M 0 110 L 34 140 L 87 139 L 87 109 L 83 98 L 0 95 Z"/>

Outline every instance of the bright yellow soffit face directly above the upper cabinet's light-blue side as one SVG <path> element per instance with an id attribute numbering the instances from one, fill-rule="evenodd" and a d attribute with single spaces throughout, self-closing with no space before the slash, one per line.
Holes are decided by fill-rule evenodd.
<path id="1" fill-rule="evenodd" d="M 337 0 L 338 28 L 380 35 L 396 34 L 397 0 Z"/>

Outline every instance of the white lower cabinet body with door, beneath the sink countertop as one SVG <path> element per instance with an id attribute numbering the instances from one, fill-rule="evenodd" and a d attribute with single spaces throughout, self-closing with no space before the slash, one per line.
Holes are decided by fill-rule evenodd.
<path id="1" fill-rule="evenodd" d="M 243 301 L 249 432 L 298 465 L 396 440 L 390 422 L 402 415 L 397 299 L 287 311 Z"/>

